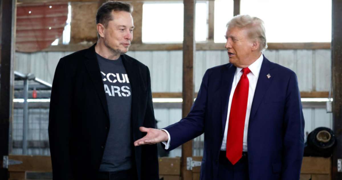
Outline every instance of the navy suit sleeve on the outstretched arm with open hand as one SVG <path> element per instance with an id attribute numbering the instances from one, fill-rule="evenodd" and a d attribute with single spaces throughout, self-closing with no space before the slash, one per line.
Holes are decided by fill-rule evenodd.
<path id="1" fill-rule="evenodd" d="M 171 151 L 172 149 L 194 139 L 204 132 L 204 121 L 208 97 L 208 79 L 209 72 L 207 70 L 203 76 L 196 100 L 188 115 L 179 122 L 163 128 L 170 134 L 170 148 L 167 149 L 167 151 Z"/>

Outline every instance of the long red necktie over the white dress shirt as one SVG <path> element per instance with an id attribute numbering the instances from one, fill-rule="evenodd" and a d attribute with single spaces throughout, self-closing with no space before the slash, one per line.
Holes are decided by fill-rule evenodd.
<path id="1" fill-rule="evenodd" d="M 244 68 L 241 71 L 243 74 L 234 91 L 227 130 L 226 157 L 233 165 L 242 157 L 249 89 L 247 74 L 251 70 Z"/>

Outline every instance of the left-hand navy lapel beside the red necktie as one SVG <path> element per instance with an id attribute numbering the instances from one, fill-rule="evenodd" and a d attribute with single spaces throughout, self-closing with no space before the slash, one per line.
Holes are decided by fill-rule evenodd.
<path id="1" fill-rule="evenodd" d="M 222 132 L 224 132 L 224 128 L 227 121 L 227 113 L 228 113 L 228 101 L 229 96 L 232 90 L 232 84 L 234 80 L 234 74 L 236 71 L 236 67 L 233 64 L 228 64 L 223 67 L 223 73 L 221 76 L 221 86 L 220 86 L 220 94 L 221 94 L 221 112 L 222 112 Z"/>

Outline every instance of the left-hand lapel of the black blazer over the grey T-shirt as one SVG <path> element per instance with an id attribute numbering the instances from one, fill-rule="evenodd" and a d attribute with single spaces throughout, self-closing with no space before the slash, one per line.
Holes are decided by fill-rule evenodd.
<path id="1" fill-rule="evenodd" d="M 106 115 L 109 119 L 107 99 L 104 91 L 104 84 L 100 73 L 100 66 L 98 65 L 96 58 L 95 45 L 96 44 L 90 47 L 87 53 L 85 54 L 86 60 L 84 61 L 84 64 L 86 65 L 86 68 L 90 75 L 90 79 L 94 83 L 95 91 L 98 97 L 100 98 L 102 107 L 104 108 Z"/>

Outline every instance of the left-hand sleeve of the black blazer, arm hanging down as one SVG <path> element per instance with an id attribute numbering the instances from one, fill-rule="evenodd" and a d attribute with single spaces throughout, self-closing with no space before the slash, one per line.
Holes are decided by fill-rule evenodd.
<path id="1" fill-rule="evenodd" d="M 62 58 L 57 64 L 50 98 L 48 130 L 54 180 L 73 178 L 69 152 L 72 83 L 65 60 Z"/>

